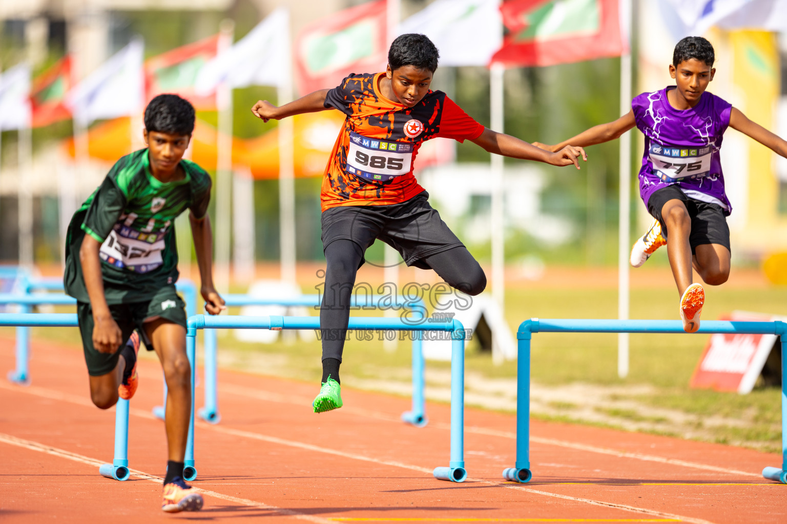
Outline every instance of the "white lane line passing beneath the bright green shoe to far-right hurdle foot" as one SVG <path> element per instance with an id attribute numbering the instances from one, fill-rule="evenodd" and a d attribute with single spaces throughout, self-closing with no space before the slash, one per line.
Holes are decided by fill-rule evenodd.
<path id="1" fill-rule="evenodd" d="M 234 386 L 231 384 L 221 385 L 219 389 L 220 391 L 226 393 L 237 394 L 250 398 L 257 398 L 259 400 L 264 400 L 264 401 L 280 402 L 286 404 L 303 405 L 304 402 L 309 404 L 312 401 L 311 399 L 305 397 L 279 394 L 273 391 L 254 390 L 249 387 Z M 358 408 L 353 409 L 346 406 L 342 408 L 342 410 L 344 410 L 345 412 L 350 412 L 361 416 L 368 416 L 370 418 L 374 418 L 378 420 L 387 420 L 390 422 L 401 423 L 401 420 L 398 419 L 397 417 L 389 416 L 382 412 L 374 412 L 368 409 L 358 409 Z M 441 423 L 441 422 L 430 422 L 429 427 L 435 427 L 442 430 L 451 429 L 451 426 L 449 424 Z M 510 438 L 512 440 L 516 440 L 516 434 L 512 431 L 499 431 L 499 430 L 493 430 L 486 427 L 478 427 L 478 426 L 465 427 L 464 431 L 465 433 L 483 434 L 483 435 L 489 435 L 491 437 Z M 534 435 L 530 435 L 530 442 L 536 442 L 538 444 L 545 444 L 545 445 L 555 445 L 561 448 L 577 449 L 579 451 L 585 451 L 589 453 L 600 453 L 601 455 L 611 455 L 624 459 L 643 460 L 645 462 L 656 462 L 659 464 L 670 464 L 672 466 L 690 467 L 693 469 L 699 469 L 704 471 L 715 471 L 717 473 L 725 473 L 727 475 L 743 475 L 746 477 L 762 478 L 762 475 L 760 475 L 759 473 L 752 473 L 751 471 L 735 470 L 735 469 L 731 469 L 730 467 L 711 466 L 710 464 L 689 462 L 689 460 L 671 459 L 671 458 L 667 458 L 666 456 L 646 455 L 644 453 L 631 453 L 631 452 L 621 451 L 619 449 L 601 448 L 595 445 L 582 444 L 581 442 L 568 442 L 568 441 L 558 440 L 556 438 L 544 438 L 544 437 L 536 437 Z"/>

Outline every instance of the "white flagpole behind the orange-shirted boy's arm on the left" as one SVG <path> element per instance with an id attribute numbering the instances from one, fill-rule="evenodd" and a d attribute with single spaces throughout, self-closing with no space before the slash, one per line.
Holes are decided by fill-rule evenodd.
<path id="1" fill-rule="evenodd" d="M 290 16 L 286 17 L 283 37 L 287 71 L 276 90 L 279 105 L 293 99 Z M 281 279 L 297 285 L 295 272 L 295 126 L 292 118 L 279 120 L 279 260 Z"/>

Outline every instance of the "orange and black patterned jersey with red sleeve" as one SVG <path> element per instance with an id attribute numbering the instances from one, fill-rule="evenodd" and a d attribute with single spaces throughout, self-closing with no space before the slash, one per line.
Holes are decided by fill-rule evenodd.
<path id="1" fill-rule="evenodd" d="M 429 91 L 412 108 L 388 100 L 379 90 L 382 75 L 349 75 L 325 97 L 326 108 L 347 118 L 325 167 L 323 211 L 410 200 L 423 191 L 412 174 L 423 141 L 474 140 L 484 130 L 442 91 Z"/>

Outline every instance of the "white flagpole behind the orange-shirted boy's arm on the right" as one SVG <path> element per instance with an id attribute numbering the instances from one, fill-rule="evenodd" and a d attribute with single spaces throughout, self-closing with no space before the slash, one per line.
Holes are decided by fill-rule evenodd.
<path id="1" fill-rule="evenodd" d="M 504 130 L 504 86 L 503 64 L 494 63 L 490 66 L 490 126 L 493 131 L 502 133 Z M 503 157 L 492 155 L 492 298 L 500 307 L 501 314 L 505 307 L 505 214 L 503 194 Z M 492 341 L 492 360 L 503 361 L 497 344 Z"/>

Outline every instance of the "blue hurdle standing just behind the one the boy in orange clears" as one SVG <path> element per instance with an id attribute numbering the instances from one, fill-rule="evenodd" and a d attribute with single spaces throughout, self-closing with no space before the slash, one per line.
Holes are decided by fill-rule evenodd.
<path id="1" fill-rule="evenodd" d="M 361 296 L 363 301 L 361 301 Z M 260 298 L 249 295 L 224 295 L 222 297 L 227 306 L 312 306 L 320 307 L 320 295 L 301 295 L 290 299 Z M 377 309 L 375 304 L 380 299 L 390 298 L 388 295 L 357 295 L 353 294 L 353 307 L 361 309 Z M 403 299 L 401 302 L 398 299 Z M 371 304 L 371 305 L 370 305 Z M 426 321 L 427 310 L 423 305 L 422 299 L 408 300 L 405 297 L 397 297 L 397 308 L 409 310 L 411 317 L 408 321 L 423 323 Z M 205 405 L 198 410 L 197 415 L 205 422 L 218 423 L 221 420 L 218 406 L 217 390 L 217 364 L 216 330 L 205 330 Z M 421 340 L 413 337 L 412 340 L 412 409 L 401 414 L 401 420 L 416 427 L 424 427 L 429 422 L 426 416 L 426 405 L 424 402 L 423 370 L 424 360 Z M 164 418 L 164 409 L 157 407 L 153 409 L 153 414 L 158 418 Z"/>

